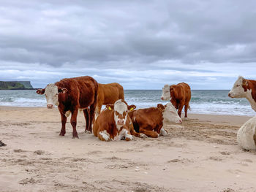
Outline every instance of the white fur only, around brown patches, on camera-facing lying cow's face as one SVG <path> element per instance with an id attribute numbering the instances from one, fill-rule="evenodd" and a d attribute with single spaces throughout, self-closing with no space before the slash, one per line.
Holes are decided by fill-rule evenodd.
<path id="1" fill-rule="evenodd" d="M 124 112 L 126 112 L 124 119 L 119 119 L 118 115 L 116 115 L 116 112 L 118 112 L 121 115 L 123 115 Z M 118 101 L 115 102 L 115 104 L 114 104 L 114 120 L 116 122 L 116 128 L 118 128 L 118 131 L 120 130 L 121 126 L 124 126 L 124 124 L 127 122 L 127 116 L 128 116 L 127 112 L 128 112 L 127 104 L 122 102 L 121 99 L 119 99 Z M 117 123 L 118 120 L 124 120 L 124 124 L 118 125 L 118 123 Z"/>

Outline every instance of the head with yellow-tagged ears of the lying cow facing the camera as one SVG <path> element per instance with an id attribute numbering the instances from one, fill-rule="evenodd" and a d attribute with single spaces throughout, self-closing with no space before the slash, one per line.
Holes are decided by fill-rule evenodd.
<path id="1" fill-rule="evenodd" d="M 115 104 L 107 104 L 106 107 L 108 110 L 113 110 L 114 120 L 118 129 L 126 124 L 128 111 L 136 108 L 134 104 L 128 105 L 123 99 L 117 100 Z"/>

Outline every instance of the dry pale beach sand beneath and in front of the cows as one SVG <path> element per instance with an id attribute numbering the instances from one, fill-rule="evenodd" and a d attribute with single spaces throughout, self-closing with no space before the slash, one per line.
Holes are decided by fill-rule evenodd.
<path id="1" fill-rule="evenodd" d="M 167 137 L 102 142 L 81 113 L 72 139 L 57 109 L 0 107 L 0 191 L 256 191 L 256 153 L 236 142 L 249 118 L 189 114 Z"/>

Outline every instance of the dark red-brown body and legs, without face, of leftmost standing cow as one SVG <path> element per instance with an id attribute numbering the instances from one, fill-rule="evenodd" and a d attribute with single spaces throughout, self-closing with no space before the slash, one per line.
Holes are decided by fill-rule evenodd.
<path id="1" fill-rule="evenodd" d="M 91 131 L 91 121 L 94 118 L 94 110 L 97 104 L 97 91 L 98 83 L 94 78 L 89 76 L 84 77 L 74 77 L 60 80 L 56 82 L 59 88 L 66 88 L 66 93 L 59 93 L 59 112 L 61 113 L 61 136 L 66 133 L 66 122 L 67 117 L 65 113 L 70 111 L 72 113 L 70 123 L 73 128 L 73 138 L 78 138 L 78 133 L 76 131 L 77 115 L 78 109 L 85 109 L 90 107 L 90 112 L 83 110 L 86 122 L 86 130 Z"/>

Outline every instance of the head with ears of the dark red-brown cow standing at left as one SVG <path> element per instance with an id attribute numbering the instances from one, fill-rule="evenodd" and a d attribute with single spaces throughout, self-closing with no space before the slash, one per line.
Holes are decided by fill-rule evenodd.
<path id="1" fill-rule="evenodd" d="M 38 89 L 37 94 L 45 94 L 47 108 L 52 109 L 53 105 L 59 106 L 59 93 L 66 93 L 67 88 L 59 88 L 57 85 L 48 84 L 46 88 Z"/>

